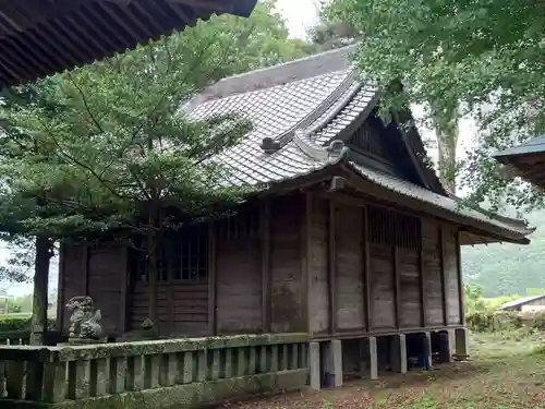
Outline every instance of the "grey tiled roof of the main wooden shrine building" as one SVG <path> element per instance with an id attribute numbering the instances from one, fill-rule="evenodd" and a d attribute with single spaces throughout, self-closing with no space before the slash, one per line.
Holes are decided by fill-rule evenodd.
<path id="1" fill-rule="evenodd" d="M 415 129 L 412 134 L 416 137 L 409 147 L 427 185 L 374 169 L 348 154 L 350 149 L 340 140 L 353 132 L 356 120 L 372 113 L 382 95 L 352 67 L 350 55 L 355 47 L 221 80 L 182 108 L 197 120 L 233 112 L 251 119 L 252 131 L 217 157 L 230 170 L 226 182 L 267 189 L 341 166 L 384 191 L 419 206 L 426 204 L 431 212 L 440 210 L 460 225 L 470 224 L 506 241 L 528 241 L 524 237 L 533 229 L 524 220 L 470 209 L 448 195 L 424 164 L 425 149 Z"/>

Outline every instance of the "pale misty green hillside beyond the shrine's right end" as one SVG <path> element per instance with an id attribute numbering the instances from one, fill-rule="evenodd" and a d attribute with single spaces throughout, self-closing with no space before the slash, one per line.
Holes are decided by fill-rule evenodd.
<path id="1" fill-rule="evenodd" d="M 545 288 L 545 210 L 525 217 L 537 228 L 529 245 L 462 248 L 464 280 L 483 287 L 485 297 L 526 294 Z"/>

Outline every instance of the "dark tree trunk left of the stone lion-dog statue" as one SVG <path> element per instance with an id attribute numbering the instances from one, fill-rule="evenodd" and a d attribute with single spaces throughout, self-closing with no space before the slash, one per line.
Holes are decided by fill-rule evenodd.
<path id="1" fill-rule="evenodd" d="M 34 296 L 31 345 L 44 345 L 47 332 L 47 305 L 49 260 L 51 241 L 46 236 L 36 237 L 36 261 L 34 265 Z"/>

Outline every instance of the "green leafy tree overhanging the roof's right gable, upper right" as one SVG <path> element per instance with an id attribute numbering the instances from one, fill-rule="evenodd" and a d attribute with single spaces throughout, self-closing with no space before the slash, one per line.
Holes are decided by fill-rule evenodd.
<path id="1" fill-rule="evenodd" d="M 458 167 L 452 152 L 461 106 L 489 130 L 482 147 L 462 164 L 463 184 L 474 190 L 475 202 L 505 193 L 506 182 L 487 159 L 491 151 L 543 129 L 543 4 L 334 0 L 329 15 L 362 33 L 356 56 L 362 72 L 383 86 L 403 83 L 403 95 L 390 103 L 427 104 L 438 134 L 441 177 L 450 179 L 447 185 Z M 517 197 L 526 195 L 524 203 L 531 202 L 528 193 L 534 192 Z"/>

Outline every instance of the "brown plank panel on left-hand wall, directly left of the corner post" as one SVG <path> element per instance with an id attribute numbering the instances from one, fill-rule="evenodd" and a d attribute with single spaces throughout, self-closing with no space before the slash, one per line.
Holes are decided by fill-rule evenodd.
<path id="1" fill-rule="evenodd" d="M 270 303 L 271 330 L 305 330 L 301 226 L 303 195 L 281 196 L 270 202 Z"/>

